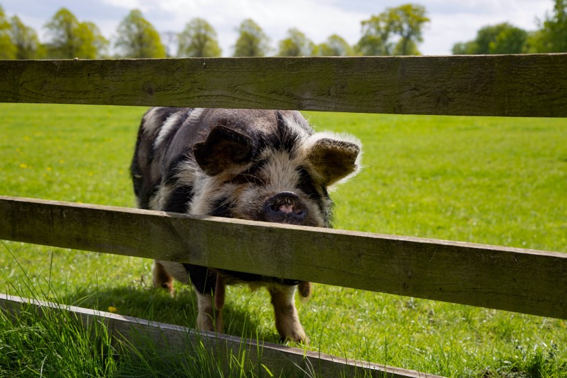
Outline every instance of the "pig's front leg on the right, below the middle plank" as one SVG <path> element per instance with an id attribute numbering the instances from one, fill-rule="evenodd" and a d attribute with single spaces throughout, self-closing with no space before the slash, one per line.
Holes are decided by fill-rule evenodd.
<path id="1" fill-rule="evenodd" d="M 284 341 L 309 343 L 295 308 L 295 286 L 281 286 L 270 289 L 276 318 L 276 329 Z"/>

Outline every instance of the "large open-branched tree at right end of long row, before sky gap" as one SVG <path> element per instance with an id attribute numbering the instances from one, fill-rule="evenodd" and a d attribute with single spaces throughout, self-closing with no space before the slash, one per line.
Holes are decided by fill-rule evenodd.
<path id="1" fill-rule="evenodd" d="M 423 42 L 422 28 L 429 22 L 425 13 L 423 6 L 404 4 L 362 21 L 357 52 L 360 55 L 418 55 L 417 46 Z"/>

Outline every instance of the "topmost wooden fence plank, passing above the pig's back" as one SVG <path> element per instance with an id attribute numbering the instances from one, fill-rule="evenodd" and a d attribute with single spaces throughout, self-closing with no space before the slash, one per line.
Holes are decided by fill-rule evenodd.
<path id="1" fill-rule="evenodd" d="M 0 102 L 567 116 L 567 54 L 0 61 Z"/>

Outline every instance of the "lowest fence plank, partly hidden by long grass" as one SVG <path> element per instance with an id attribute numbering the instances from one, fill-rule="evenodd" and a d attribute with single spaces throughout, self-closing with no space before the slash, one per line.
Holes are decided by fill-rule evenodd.
<path id="1" fill-rule="evenodd" d="M 112 336 L 118 340 L 125 340 L 128 345 L 136 348 L 144 347 L 143 343 L 150 339 L 157 347 L 162 348 L 160 352 L 164 359 L 179 354 L 195 355 L 196 348 L 202 348 L 201 343 L 203 343 L 206 350 L 216 354 L 218 358 L 215 360 L 223 363 L 223 368 L 227 373 L 230 363 L 228 358 L 232 354 L 236 357 L 246 356 L 247 361 L 259 369 L 261 369 L 261 364 L 267 366 L 275 377 L 282 375 L 309 377 L 308 372 L 316 372 L 320 377 L 441 378 L 437 375 L 345 359 L 284 345 L 241 339 L 214 332 L 197 332 L 178 325 L 0 294 L 0 309 L 12 316 L 17 316 L 21 309 L 30 311 L 30 307 L 40 314 L 51 309 L 71 312 L 84 325 L 100 321 L 104 323 Z M 259 376 L 262 375 L 259 374 Z"/>

